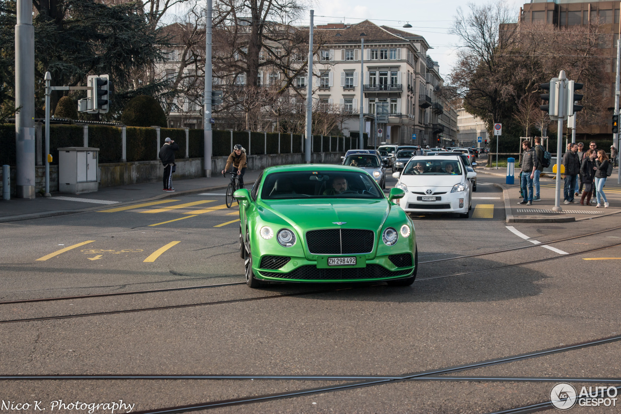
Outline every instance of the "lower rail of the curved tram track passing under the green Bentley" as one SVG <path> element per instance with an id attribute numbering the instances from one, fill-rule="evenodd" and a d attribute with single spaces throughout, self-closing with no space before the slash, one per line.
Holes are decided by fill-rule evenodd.
<path id="1" fill-rule="evenodd" d="M 540 246 L 540 245 L 537 245 L 537 246 Z M 432 279 L 439 279 L 439 278 L 446 278 L 446 277 L 470 275 L 470 274 L 481 273 L 481 272 L 491 272 L 493 270 L 499 270 L 499 269 L 509 269 L 510 267 L 524 266 L 524 265 L 528 265 L 528 264 L 536 264 L 536 263 L 541 263 L 541 262 L 547 262 L 548 260 L 564 259 L 566 257 L 574 257 L 576 255 L 581 255 L 581 254 L 586 254 L 586 253 L 591 253 L 591 252 L 602 251 L 602 250 L 610 249 L 612 247 L 617 247 L 617 246 L 621 246 L 621 243 L 613 244 L 612 246 L 597 247 L 596 249 L 590 249 L 590 250 L 582 251 L 582 252 L 576 252 L 576 253 L 571 253 L 571 254 L 559 255 L 559 256 L 555 256 L 555 257 L 548 257 L 547 259 L 531 260 L 530 262 L 522 262 L 522 263 L 517 263 L 517 264 L 502 265 L 502 266 L 499 266 L 499 267 L 491 267 L 489 269 L 470 270 L 468 272 L 459 272 L 459 273 L 453 273 L 453 274 L 447 274 L 447 275 L 422 277 L 422 278 L 417 278 L 415 280 L 415 282 L 422 282 L 422 281 L 425 281 L 425 280 L 432 280 Z M 373 283 L 373 282 L 371 282 L 371 283 Z M 378 283 L 383 283 L 383 282 L 379 281 Z M 242 284 L 242 283 L 240 283 L 240 284 Z M 377 286 L 377 285 L 371 284 L 371 285 L 368 285 L 368 286 Z M 41 316 L 39 318 L 23 318 L 23 319 L 12 319 L 12 320 L 0 320 L 0 324 L 4 324 L 4 323 L 20 323 L 20 322 L 37 322 L 37 321 L 48 321 L 48 320 L 71 319 L 71 318 L 83 318 L 83 317 L 86 317 L 86 316 L 119 315 L 121 313 L 136 313 L 136 312 L 157 311 L 157 310 L 172 310 L 172 309 L 193 308 L 193 307 L 197 307 L 197 306 L 208 306 L 208 305 L 224 305 L 224 304 L 227 304 L 227 303 L 239 303 L 239 302 L 264 300 L 264 299 L 276 299 L 276 298 L 286 298 L 286 297 L 313 295 L 315 293 L 331 293 L 331 292 L 338 292 L 340 290 L 353 290 L 354 288 L 356 288 L 356 286 L 352 285 L 350 287 L 324 289 L 324 290 L 314 290 L 312 292 L 285 293 L 283 295 L 271 295 L 271 296 L 264 296 L 264 297 L 243 298 L 243 299 L 230 299 L 230 300 L 201 302 L 201 303 L 188 303 L 188 304 L 185 304 L 185 305 L 157 306 L 157 307 L 153 307 L 153 308 L 138 308 L 138 309 L 119 310 L 119 311 L 78 313 L 78 314 L 74 314 L 74 315 Z"/>

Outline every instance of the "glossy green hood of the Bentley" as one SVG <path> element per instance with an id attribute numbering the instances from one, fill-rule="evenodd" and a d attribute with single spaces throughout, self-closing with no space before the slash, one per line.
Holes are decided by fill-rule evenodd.
<path id="1" fill-rule="evenodd" d="M 369 229 L 378 231 L 384 224 L 390 205 L 388 200 L 315 199 L 269 200 L 266 208 L 304 232 L 312 229 Z M 343 224 L 334 224 L 334 223 Z"/>

